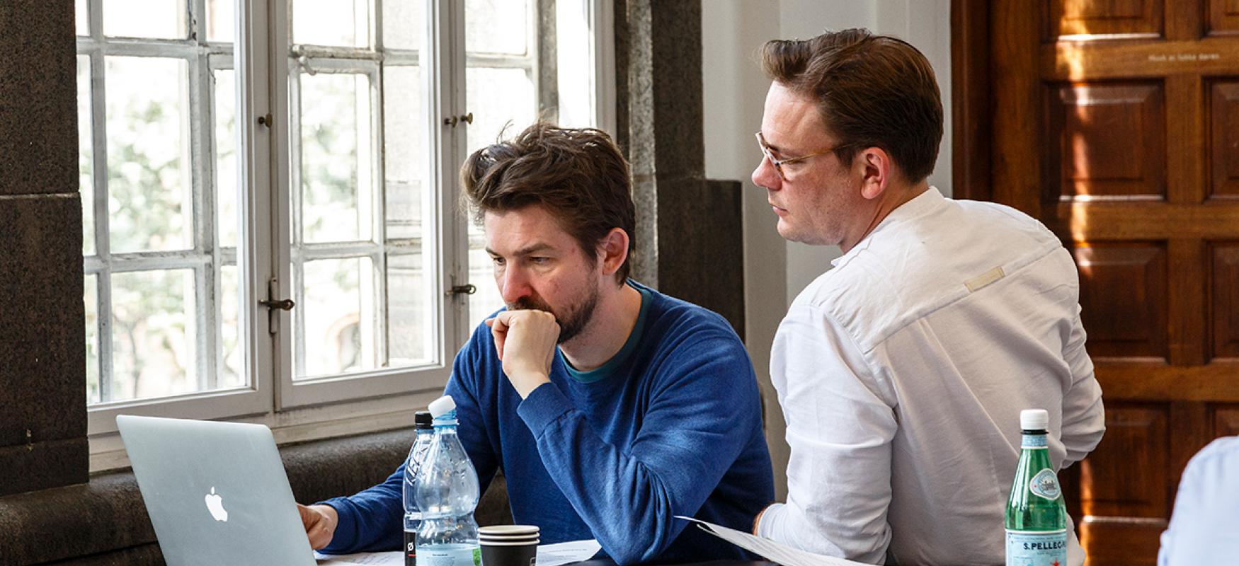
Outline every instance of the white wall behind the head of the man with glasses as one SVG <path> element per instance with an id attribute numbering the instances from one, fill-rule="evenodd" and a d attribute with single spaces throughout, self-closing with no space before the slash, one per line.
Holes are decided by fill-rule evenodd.
<path id="1" fill-rule="evenodd" d="M 761 129 L 769 82 L 758 63 L 767 40 L 809 38 L 825 30 L 867 27 L 921 50 L 938 74 L 945 135 L 929 183 L 950 194 L 950 0 L 704 0 L 701 47 L 705 104 L 705 173 L 743 182 L 745 337 L 766 403 L 766 437 L 774 459 L 777 495 L 787 495 L 783 476 L 788 448 L 784 424 L 769 380 L 769 347 L 792 298 L 830 268 L 838 248 L 784 242 L 766 192 L 750 173 L 761 154 Z"/>

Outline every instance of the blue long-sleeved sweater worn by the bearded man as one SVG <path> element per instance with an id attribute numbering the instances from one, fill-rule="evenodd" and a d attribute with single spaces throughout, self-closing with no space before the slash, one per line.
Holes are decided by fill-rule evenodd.
<path id="1" fill-rule="evenodd" d="M 641 315 L 603 367 L 556 353 L 550 381 L 524 400 L 503 375 L 489 328 L 456 355 L 446 393 L 482 489 L 497 468 L 512 515 L 543 544 L 597 539 L 616 562 L 743 559 L 673 515 L 748 531 L 773 500 L 752 363 L 727 322 L 634 281 Z M 398 549 L 404 467 L 351 498 L 327 552 Z"/>

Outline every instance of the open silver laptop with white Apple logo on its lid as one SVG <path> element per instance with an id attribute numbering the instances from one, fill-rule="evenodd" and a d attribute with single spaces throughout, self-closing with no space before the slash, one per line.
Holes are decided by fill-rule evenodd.
<path id="1" fill-rule="evenodd" d="M 130 415 L 116 427 L 170 566 L 316 564 L 268 427 Z"/>

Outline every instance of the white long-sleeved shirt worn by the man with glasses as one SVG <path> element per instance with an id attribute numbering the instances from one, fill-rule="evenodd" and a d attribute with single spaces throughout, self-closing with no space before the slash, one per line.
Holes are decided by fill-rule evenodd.
<path id="1" fill-rule="evenodd" d="M 1002 564 L 1020 411 L 1049 411 L 1056 471 L 1105 431 L 1070 254 L 1018 211 L 930 187 L 833 265 L 774 337 L 788 499 L 758 534 L 870 564 Z"/>

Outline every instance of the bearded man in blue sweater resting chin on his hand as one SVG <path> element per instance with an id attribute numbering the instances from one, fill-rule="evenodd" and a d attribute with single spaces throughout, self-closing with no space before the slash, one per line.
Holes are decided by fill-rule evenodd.
<path id="1" fill-rule="evenodd" d="M 446 393 L 484 489 L 543 542 L 597 539 L 618 564 L 738 559 L 674 515 L 746 529 L 773 499 L 752 363 L 727 322 L 627 277 L 628 165 L 597 130 L 535 124 L 461 171 L 507 308 L 456 355 Z M 404 467 L 304 507 L 315 549 L 401 544 Z"/>

